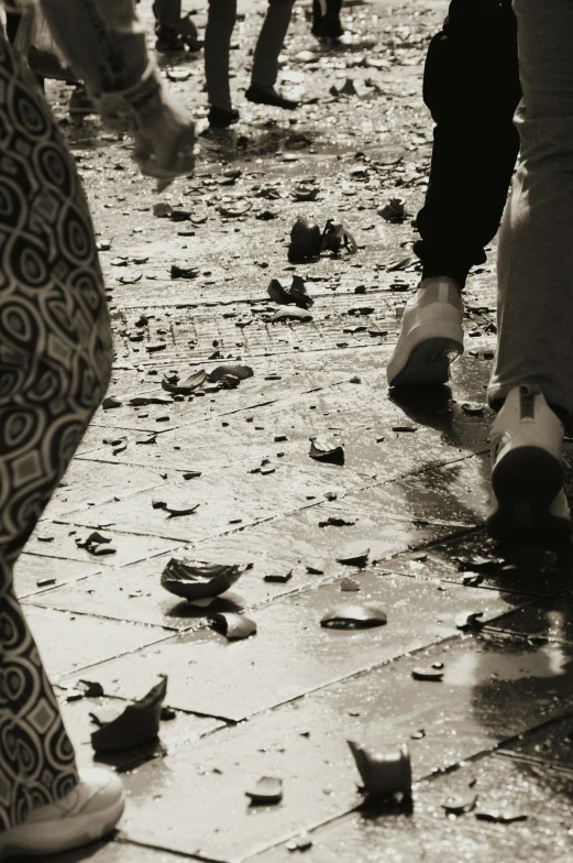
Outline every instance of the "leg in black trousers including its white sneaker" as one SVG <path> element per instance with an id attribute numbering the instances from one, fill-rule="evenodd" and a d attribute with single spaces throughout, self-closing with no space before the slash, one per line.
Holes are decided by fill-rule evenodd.
<path id="1" fill-rule="evenodd" d="M 497 231 L 518 152 L 520 98 L 511 0 L 452 0 L 430 44 L 425 101 L 436 121 L 430 183 L 414 245 L 422 281 L 403 317 L 390 386 L 444 383 L 463 352 L 460 293 Z"/>

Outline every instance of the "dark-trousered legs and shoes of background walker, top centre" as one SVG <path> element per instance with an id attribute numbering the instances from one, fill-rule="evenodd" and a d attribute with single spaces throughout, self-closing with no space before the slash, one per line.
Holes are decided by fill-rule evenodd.
<path id="1" fill-rule="evenodd" d="M 290 23 L 295 0 L 269 0 L 253 57 L 251 86 L 246 98 L 258 105 L 293 110 L 298 102 L 282 96 L 275 88 L 278 55 Z M 229 86 L 229 52 L 236 21 L 236 0 L 210 0 L 205 31 L 205 73 L 209 99 L 209 123 L 224 128 L 239 120 Z"/>

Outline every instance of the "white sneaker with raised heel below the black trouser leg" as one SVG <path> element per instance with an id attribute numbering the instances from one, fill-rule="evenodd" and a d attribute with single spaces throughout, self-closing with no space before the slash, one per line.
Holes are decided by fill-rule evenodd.
<path id="1" fill-rule="evenodd" d="M 406 304 L 398 343 L 386 369 L 390 386 L 445 383 L 463 353 L 463 303 L 455 282 L 425 278 Z"/>

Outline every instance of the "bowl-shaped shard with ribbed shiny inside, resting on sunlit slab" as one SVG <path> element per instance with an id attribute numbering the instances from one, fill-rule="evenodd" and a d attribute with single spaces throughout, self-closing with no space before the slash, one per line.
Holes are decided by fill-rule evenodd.
<path id="1" fill-rule="evenodd" d="M 162 587 L 194 601 L 218 597 L 238 581 L 252 564 L 206 564 L 172 557 L 162 572 Z"/>

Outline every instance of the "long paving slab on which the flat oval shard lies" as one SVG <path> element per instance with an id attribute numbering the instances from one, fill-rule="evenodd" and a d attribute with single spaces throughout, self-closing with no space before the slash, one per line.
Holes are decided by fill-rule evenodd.
<path id="1" fill-rule="evenodd" d="M 186 633 L 134 653 L 128 664 L 101 665 L 99 679 L 109 695 L 134 698 L 155 675 L 173 669 L 174 707 L 239 721 L 451 635 L 461 613 L 483 611 L 484 619 L 492 619 L 507 609 L 492 591 L 467 596 L 456 586 L 405 585 L 401 577 L 348 569 L 361 585 L 356 599 L 381 603 L 386 626 L 321 627 L 323 614 L 346 601 L 338 583 L 323 585 L 258 609 L 252 615 L 257 633 L 247 641 L 229 644 L 212 630 Z"/>

